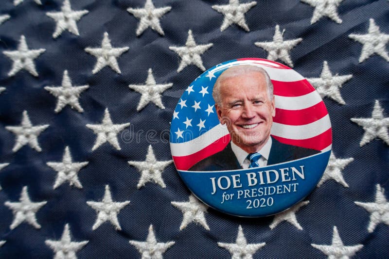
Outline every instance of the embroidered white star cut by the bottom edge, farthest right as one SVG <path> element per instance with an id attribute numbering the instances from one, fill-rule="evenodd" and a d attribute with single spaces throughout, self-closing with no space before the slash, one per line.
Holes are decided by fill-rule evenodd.
<path id="1" fill-rule="evenodd" d="M 327 255 L 328 258 L 341 258 L 341 259 L 349 259 L 354 256 L 356 252 L 358 252 L 363 245 L 350 245 L 346 246 L 343 244 L 340 239 L 339 233 L 337 232 L 336 226 L 334 226 L 334 232 L 332 235 L 332 244 L 331 245 L 321 245 L 321 244 L 311 244 L 316 249 L 320 250 L 323 254 Z"/>

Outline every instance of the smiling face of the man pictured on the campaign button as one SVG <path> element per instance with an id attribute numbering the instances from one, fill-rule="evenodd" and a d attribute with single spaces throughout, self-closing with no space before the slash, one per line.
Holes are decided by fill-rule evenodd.
<path id="1" fill-rule="evenodd" d="M 269 99 L 265 76 L 248 72 L 220 82 L 221 105 L 215 105 L 217 116 L 226 124 L 232 141 L 246 152 L 255 152 L 270 136 L 274 97 Z"/>

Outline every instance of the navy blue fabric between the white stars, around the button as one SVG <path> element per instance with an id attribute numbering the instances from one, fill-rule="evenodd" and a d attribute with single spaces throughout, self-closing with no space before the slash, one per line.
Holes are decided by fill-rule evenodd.
<path id="1" fill-rule="evenodd" d="M 89 241 L 77 252 L 78 258 L 140 258 L 128 241 L 145 241 L 151 224 L 159 242 L 176 242 L 164 258 L 229 258 L 230 253 L 217 242 L 234 243 L 239 225 L 248 243 L 266 243 L 254 258 L 325 258 L 311 243 L 331 244 L 334 226 L 345 245 L 364 245 L 355 258 L 388 257 L 389 226 L 381 223 L 369 233 L 370 214 L 354 201 L 373 202 L 376 184 L 385 188 L 385 196 L 389 197 L 389 147 L 380 139 L 360 147 L 364 130 L 350 118 L 371 117 L 376 99 L 385 109 L 384 115 L 389 116 L 389 63 L 378 55 L 358 63 L 362 45 L 348 37 L 351 33 L 366 34 L 369 18 L 388 34 L 387 0 L 344 0 L 338 7 L 341 24 L 323 17 L 313 25 L 310 20 L 314 8 L 308 4 L 299 0 L 257 0 L 246 14 L 250 32 L 237 25 L 220 32 L 224 16 L 211 6 L 226 4 L 227 0 L 154 0 L 156 7 L 172 7 L 160 19 L 165 36 L 149 28 L 139 37 L 135 34 L 139 20 L 126 9 L 143 7 L 144 0 L 71 0 L 73 10 L 86 9 L 89 13 L 77 22 L 80 36 L 65 31 L 56 39 L 52 37 L 55 22 L 45 13 L 59 11 L 62 0 L 41 1 L 42 5 L 33 0 L 24 0 L 18 6 L 12 0 L 0 4 L 0 14 L 11 16 L 0 25 L 0 86 L 6 87 L 0 95 L 0 163 L 10 163 L 0 171 L 0 240 L 6 241 L 0 248 L 1 258 L 52 258 L 53 251 L 45 240 L 60 239 L 66 223 L 70 224 L 73 241 Z M 304 77 L 319 77 L 324 60 L 333 74 L 353 74 L 340 90 L 345 105 L 324 99 L 333 126 L 336 157 L 354 158 L 343 170 L 350 187 L 328 180 L 309 195 L 309 204 L 297 212 L 303 230 L 287 222 L 270 229 L 273 216 L 239 218 L 212 209 L 206 214 L 210 230 L 194 223 L 179 230 L 182 213 L 171 201 L 188 201 L 190 192 L 174 164 L 162 173 L 166 188 L 147 183 L 137 189 L 140 173 L 127 163 L 144 161 L 150 144 L 157 160 L 172 159 L 169 123 L 179 98 L 202 71 L 189 65 L 177 73 L 180 59 L 168 47 L 184 45 L 191 29 L 197 44 L 213 43 L 202 55 L 206 68 L 236 58 L 266 58 L 266 51 L 254 42 L 271 41 L 277 24 L 285 29 L 285 40 L 303 39 L 290 55 L 294 69 Z M 94 75 L 91 72 L 96 58 L 84 49 L 99 47 L 104 32 L 109 33 L 113 47 L 129 47 L 118 58 L 122 74 L 109 67 Z M 30 49 L 46 49 L 35 59 L 37 78 L 26 70 L 13 77 L 7 75 L 12 61 L 2 51 L 15 50 L 22 34 Z M 148 68 L 153 69 L 157 82 L 172 82 L 173 87 L 162 95 L 166 109 L 150 103 L 137 112 L 141 95 L 128 85 L 143 84 Z M 57 100 L 44 90 L 44 86 L 60 85 L 65 69 L 74 85 L 89 85 L 80 97 L 84 113 L 69 106 L 54 113 Z M 114 123 L 131 125 L 119 134 L 122 150 L 104 144 L 91 151 L 96 135 L 85 125 L 100 123 L 106 108 Z M 34 125 L 50 124 L 38 137 L 42 152 L 28 146 L 12 152 L 15 136 L 5 126 L 19 125 L 24 110 Z M 73 161 L 89 162 L 78 173 L 82 189 L 66 182 L 53 190 L 56 172 L 46 162 L 61 161 L 65 146 L 70 146 Z M 92 230 L 96 212 L 86 202 L 101 200 L 106 184 L 113 200 L 130 200 L 118 214 L 121 231 L 110 223 Z M 23 186 L 28 186 L 32 201 L 47 201 L 36 213 L 40 229 L 27 223 L 14 230 L 9 228 L 13 214 L 3 204 L 18 201 Z"/>

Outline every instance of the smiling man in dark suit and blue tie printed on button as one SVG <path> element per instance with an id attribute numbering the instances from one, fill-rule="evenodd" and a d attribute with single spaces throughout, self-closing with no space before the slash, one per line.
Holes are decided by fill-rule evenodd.
<path id="1" fill-rule="evenodd" d="M 196 163 L 190 171 L 224 171 L 263 167 L 307 157 L 319 151 L 278 142 L 270 136 L 276 115 L 273 84 L 266 71 L 236 65 L 216 80 L 212 92 L 221 124 L 231 142 L 220 152 Z"/>

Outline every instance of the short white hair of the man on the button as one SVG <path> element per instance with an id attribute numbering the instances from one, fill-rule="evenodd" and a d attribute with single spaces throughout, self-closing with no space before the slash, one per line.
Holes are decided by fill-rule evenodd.
<path id="1" fill-rule="evenodd" d="M 264 75 L 267 88 L 267 96 L 270 100 L 273 100 L 273 83 L 270 80 L 269 75 L 262 67 L 256 65 L 235 65 L 224 70 L 224 72 L 217 78 L 215 84 L 213 85 L 212 97 L 215 100 L 217 105 L 221 105 L 220 97 L 220 84 L 221 81 L 226 80 L 231 77 L 236 77 L 242 74 L 249 72 L 259 72 Z"/>

